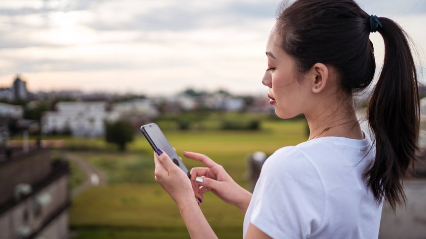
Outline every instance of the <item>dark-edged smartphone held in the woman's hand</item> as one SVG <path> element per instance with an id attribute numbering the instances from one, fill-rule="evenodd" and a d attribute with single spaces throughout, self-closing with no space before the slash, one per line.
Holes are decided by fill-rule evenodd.
<path id="1" fill-rule="evenodd" d="M 157 149 L 163 150 L 170 159 L 173 161 L 177 167 L 181 168 L 189 178 L 191 178 L 191 174 L 189 173 L 187 167 L 182 162 L 181 158 L 174 151 L 173 147 L 170 145 L 166 136 L 164 136 L 163 132 L 160 130 L 157 124 L 151 123 L 148 125 L 143 125 L 140 127 L 140 131 L 144 134 L 145 138 L 150 143 L 151 147 L 157 152 Z"/>

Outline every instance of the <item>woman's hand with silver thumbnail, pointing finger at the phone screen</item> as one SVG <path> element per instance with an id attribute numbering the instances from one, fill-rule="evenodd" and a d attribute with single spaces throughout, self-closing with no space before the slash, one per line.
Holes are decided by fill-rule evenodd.
<path id="1" fill-rule="evenodd" d="M 191 170 L 191 181 L 196 197 L 202 200 L 206 191 L 212 191 L 226 203 L 237 206 L 243 213 L 247 211 L 252 193 L 239 186 L 221 165 L 200 153 L 184 152 L 184 156 L 200 161 L 206 166 Z"/>

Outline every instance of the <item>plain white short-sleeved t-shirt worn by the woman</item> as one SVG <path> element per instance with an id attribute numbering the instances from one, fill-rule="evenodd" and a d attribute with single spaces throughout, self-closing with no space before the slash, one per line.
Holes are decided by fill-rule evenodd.
<path id="1" fill-rule="evenodd" d="M 243 237 L 251 222 L 273 238 L 377 238 L 383 205 L 362 178 L 375 155 L 364 135 L 275 151 L 255 186 Z"/>

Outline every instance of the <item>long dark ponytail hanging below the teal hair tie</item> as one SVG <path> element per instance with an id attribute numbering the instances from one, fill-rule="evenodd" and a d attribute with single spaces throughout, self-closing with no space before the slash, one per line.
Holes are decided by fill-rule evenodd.
<path id="1" fill-rule="evenodd" d="M 378 18 L 384 40 L 384 62 L 368 105 L 368 120 L 376 136 L 376 159 L 365 173 L 376 200 L 394 209 L 405 203 L 402 180 L 407 178 L 417 150 L 419 99 L 417 74 L 407 36 L 394 21 Z"/>

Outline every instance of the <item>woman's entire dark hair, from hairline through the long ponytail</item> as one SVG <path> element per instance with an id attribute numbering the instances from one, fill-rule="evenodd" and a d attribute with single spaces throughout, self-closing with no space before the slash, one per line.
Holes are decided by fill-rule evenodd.
<path id="1" fill-rule="evenodd" d="M 395 210 L 405 203 L 402 182 L 417 149 L 417 75 L 401 27 L 387 18 L 370 19 L 353 0 L 298 0 L 281 8 L 276 28 L 282 49 L 296 60 L 300 72 L 317 62 L 329 64 L 349 95 L 364 90 L 374 77 L 370 31 L 383 36 L 384 64 L 368 106 L 376 158 L 364 179 L 377 202 L 387 201 Z"/>

